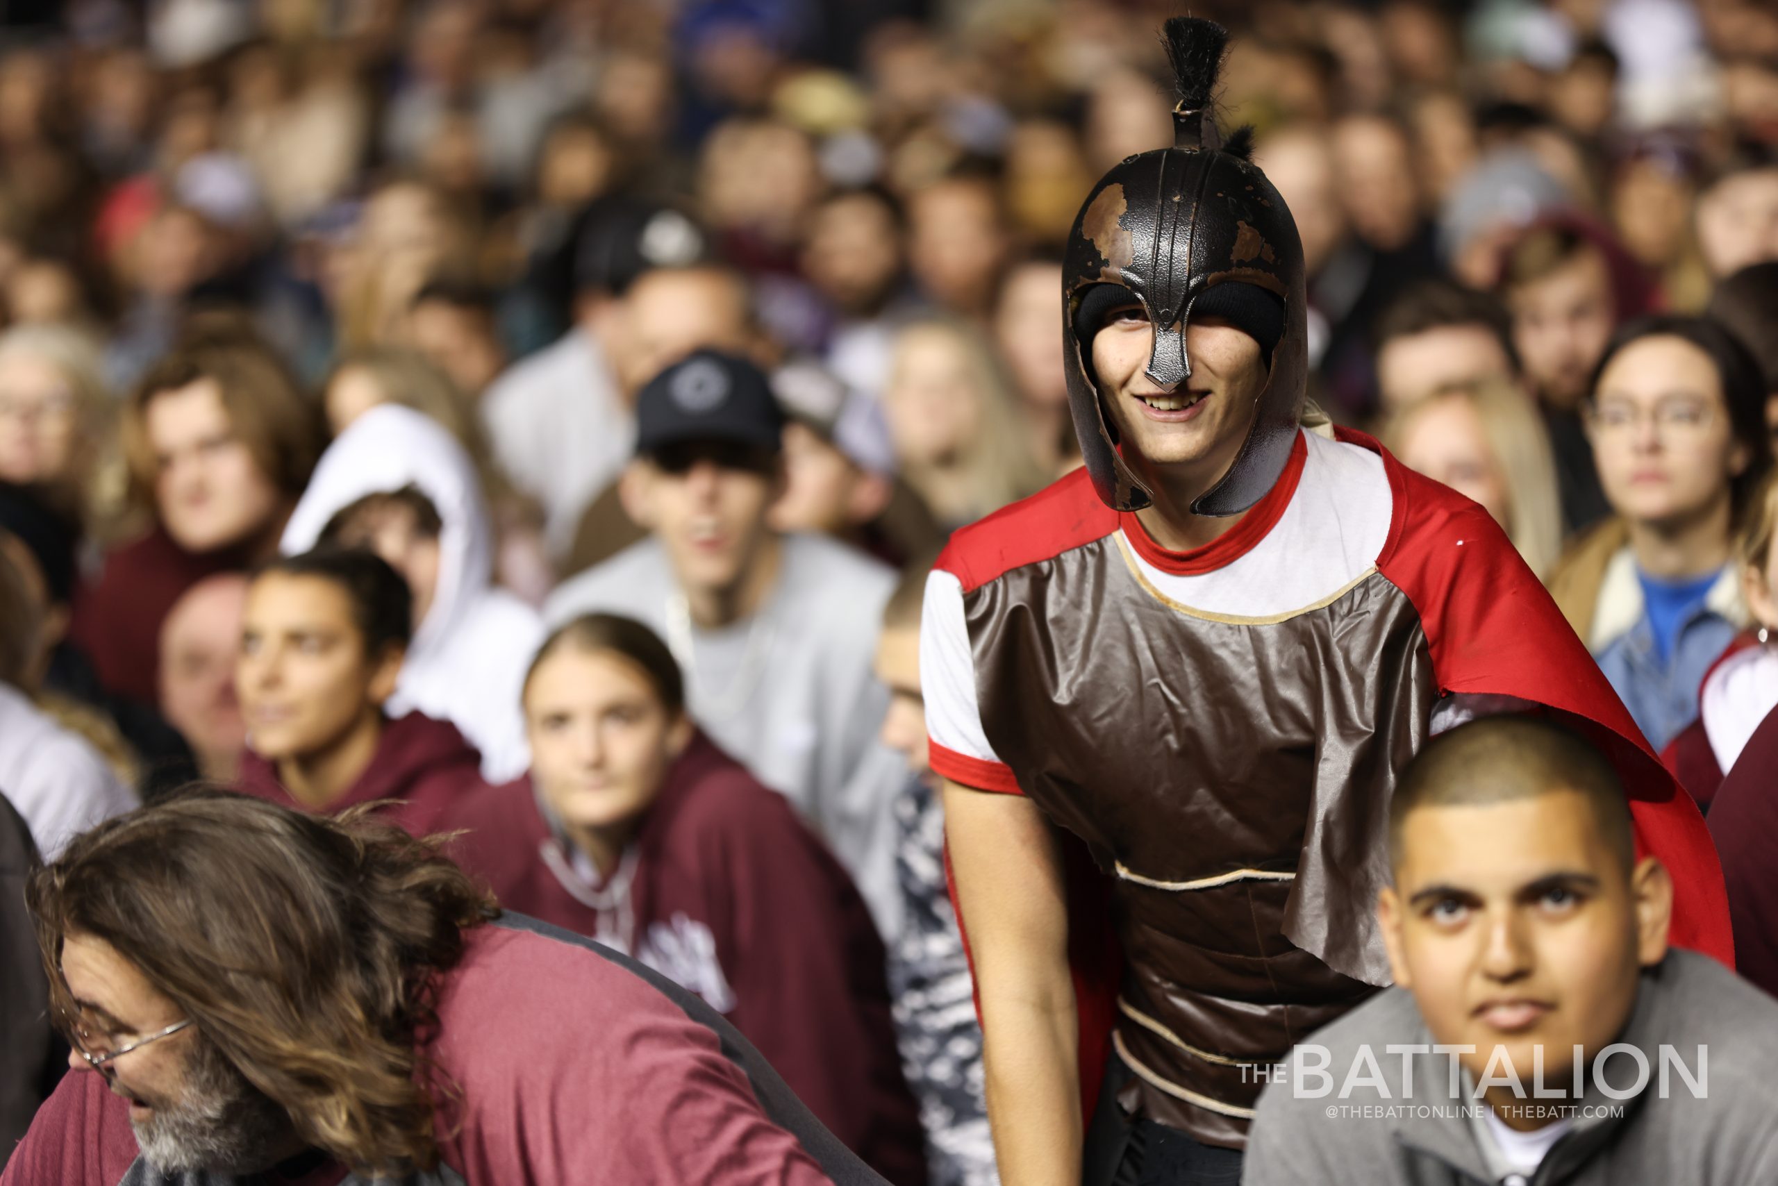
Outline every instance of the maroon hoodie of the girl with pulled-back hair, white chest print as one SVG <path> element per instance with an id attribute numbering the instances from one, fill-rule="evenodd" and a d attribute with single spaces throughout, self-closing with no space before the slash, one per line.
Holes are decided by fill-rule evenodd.
<path id="1" fill-rule="evenodd" d="M 628 942 L 628 955 L 725 1014 L 878 1174 L 925 1181 L 884 944 L 864 900 L 784 797 L 713 741 L 699 734 L 667 772 L 626 853 L 628 896 L 603 919 L 590 903 L 601 887 L 574 873 L 530 779 L 461 800 L 444 825 L 469 830 L 453 852 L 501 905 Z"/>

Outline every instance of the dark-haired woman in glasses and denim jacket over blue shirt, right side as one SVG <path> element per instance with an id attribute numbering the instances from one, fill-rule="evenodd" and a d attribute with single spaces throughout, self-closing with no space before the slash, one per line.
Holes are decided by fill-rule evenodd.
<path id="1" fill-rule="evenodd" d="M 1735 525 L 1771 461 L 1766 388 L 1716 322 L 1652 317 L 1606 347 L 1586 405 L 1614 517 L 1550 594 L 1657 750 L 1698 717 L 1698 685 L 1748 624 Z"/>

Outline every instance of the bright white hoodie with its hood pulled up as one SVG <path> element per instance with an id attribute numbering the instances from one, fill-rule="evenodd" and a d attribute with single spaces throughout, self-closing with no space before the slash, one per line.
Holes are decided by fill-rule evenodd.
<path id="1" fill-rule="evenodd" d="M 283 551 L 308 551 L 345 507 L 404 485 L 418 487 L 439 512 L 439 580 L 389 713 L 452 722 L 482 750 L 487 779 L 516 779 L 530 766 L 519 693 L 544 629 L 530 606 L 493 583 L 491 516 L 475 464 L 450 432 L 396 404 L 354 420 L 322 453 Z"/>

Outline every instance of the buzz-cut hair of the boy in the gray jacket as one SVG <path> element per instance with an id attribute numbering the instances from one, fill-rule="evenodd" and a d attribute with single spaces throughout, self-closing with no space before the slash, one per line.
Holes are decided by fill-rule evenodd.
<path id="1" fill-rule="evenodd" d="M 1572 791 L 1582 795 L 1618 855 L 1636 866 L 1636 836 L 1623 782 L 1586 738 L 1536 717 L 1483 717 L 1433 738 L 1408 763 L 1389 805 L 1389 862 L 1403 861 L 1403 825 L 1421 807 L 1486 807 Z"/>

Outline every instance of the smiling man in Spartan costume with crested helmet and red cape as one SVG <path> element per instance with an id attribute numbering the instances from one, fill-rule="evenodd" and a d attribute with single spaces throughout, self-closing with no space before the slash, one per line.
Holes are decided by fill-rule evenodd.
<path id="1" fill-rule="evenodd" d="M 1390 791 L 1435 733 L 1600 743 L 1673 941 L 1732 960 L 1714 848 L 1488 514 L 1305 425 L 1303 254 L 1175 18 L 1173 148 L 1093 187 L 1063 322 L 1083 469 L 958 532 L 921 683 L 1008 1182 L 1234 1182 L 1266 1070 L 1389 982 Z M 1083 1177 L 1085 1175 L 1085 1177 Z"/>

